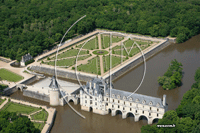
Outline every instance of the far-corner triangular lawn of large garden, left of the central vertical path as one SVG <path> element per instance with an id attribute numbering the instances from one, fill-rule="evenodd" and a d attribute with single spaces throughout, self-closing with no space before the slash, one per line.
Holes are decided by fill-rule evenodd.
<path id="1" fill-rule="evenodd" d="M 82 43 L 80 45 L 78 45 L 78 48 L 81 48 L 85 43 Z M 98 45 L 98 39 L 97 37 L 91 39 L 90 41 L 88 41 L 83 47 L 82 49 L 88 49 L 88 50 L 93 50 L 93 49 L 99 49 L 99 45 Z"/>

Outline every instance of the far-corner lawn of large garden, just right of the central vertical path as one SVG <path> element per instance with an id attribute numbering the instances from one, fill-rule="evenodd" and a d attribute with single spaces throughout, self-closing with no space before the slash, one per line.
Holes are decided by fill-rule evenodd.
<path id="1" fill-rule="evenodd" d="M 116 43 L 119 42 L 121 40 L 123 40 L 124 38 L 122 37 L 112 37 L 112 43 Z M 110 36 L 109 35 L 101 35 L 101 47 L 103 49 L 108 48 L 110 46 Z"/>

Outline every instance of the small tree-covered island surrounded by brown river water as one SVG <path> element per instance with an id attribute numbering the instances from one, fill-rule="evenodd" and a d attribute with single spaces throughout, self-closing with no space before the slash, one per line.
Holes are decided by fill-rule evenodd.
<path id="1" fill-rule="evenodd" d="M 171 90 L 181 85 L 182 79 L 182 64 L 176 59 L 171 61 L 167 72 L 164 76 L 158 77 L 158 83 L 162 86 L 164 90 Z"/>

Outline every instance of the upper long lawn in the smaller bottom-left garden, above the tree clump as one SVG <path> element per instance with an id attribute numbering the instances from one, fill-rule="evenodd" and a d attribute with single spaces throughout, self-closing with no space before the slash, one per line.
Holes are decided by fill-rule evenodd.
<path id="1" fill-rule="evenodd" d="M 3 108 L 3 110 L 8 111 L 8 112 L 31 114 L 33 112 L 40 110 L 40 109 L 35 108 L 35 107 L 31 107 L 31 106 L 27 106 L 27 105 L 22 105 L 22 104 L 10 102 L 10 103 L 6 104 L 6 106 Z"/>

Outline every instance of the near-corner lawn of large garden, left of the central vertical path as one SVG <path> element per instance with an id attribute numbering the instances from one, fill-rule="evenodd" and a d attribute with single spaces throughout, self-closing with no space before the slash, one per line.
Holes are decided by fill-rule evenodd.
<path id="1" fill-rule="evenodd" d="M 98 69 L 100 68 L 100 64 L 98 60 L 99 60 L 99 57 L 92 58 L 91 60 L 88 61 L 87 64 L 77 66 L 77 70 L 93 73 L 93 74 L 98 74 L 98 71 L 99 71 Z"/>

